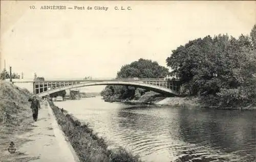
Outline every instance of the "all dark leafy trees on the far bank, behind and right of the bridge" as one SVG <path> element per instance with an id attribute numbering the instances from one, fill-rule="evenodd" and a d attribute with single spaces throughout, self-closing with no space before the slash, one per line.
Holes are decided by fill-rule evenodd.
<path id="1" fill-rule="evenodd" d="M 250 36 L 238 39 L 226 34 L 191 40 L 173 50 L 166 63 L 172 68 L 170 76 L 181 81 L 182 97 L 196 97 L 202 105 L 214 107 L 256 106 L 256 25 Z M 140 59 L 123 66 L 117 77 L 165 77 L 167 73 L 156 62 Z M 137 100 L 145 92 L 106 86 L 101 95 L 104 99 Z"/>

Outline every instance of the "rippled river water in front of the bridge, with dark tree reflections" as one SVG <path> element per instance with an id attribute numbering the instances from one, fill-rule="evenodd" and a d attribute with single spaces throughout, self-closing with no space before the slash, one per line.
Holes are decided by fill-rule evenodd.
<path id="1" fill-rule="evenodd" d="M 145 161 L 255 161 L 255 111 L 134 106 L 100 97 L 55 105 Z"/>

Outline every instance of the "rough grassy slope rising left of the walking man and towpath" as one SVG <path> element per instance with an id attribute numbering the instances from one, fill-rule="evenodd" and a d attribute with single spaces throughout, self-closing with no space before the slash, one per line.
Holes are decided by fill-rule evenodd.
<path id="1" fill-rule="evenodd" d="M 7 147 L 11 141 L 15 147 L 28 142 L 28 139 L 16 138 L 32 130 L 32 112 L 28 102 L 31 93 L 9 82 L 0 83 L 0 161 L 28 161 L 37 157 L 27 157 L 24 153 L 10 154 Z"/>

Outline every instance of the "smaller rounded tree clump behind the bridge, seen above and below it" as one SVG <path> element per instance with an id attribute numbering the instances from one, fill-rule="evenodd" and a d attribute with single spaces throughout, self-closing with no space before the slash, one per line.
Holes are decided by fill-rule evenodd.
<path id="1" fill-rule="evenodd" d="M 139 59 L 121 67 L 117 78 L 163 78 L 168 74 L 168 69 L 160 66 L 156 61 Z M 101 92 L 103 98 L 139 98 L 145 90 L 131 86 L 106 86 Z"/>

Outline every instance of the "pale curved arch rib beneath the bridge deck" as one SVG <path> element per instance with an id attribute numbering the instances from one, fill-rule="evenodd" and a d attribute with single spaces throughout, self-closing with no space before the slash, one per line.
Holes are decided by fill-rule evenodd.
<path id="1" fill-rule="evenodd" d="M 179 92 L 176 92 L 174 90 L 160 87 L 160 86 L 155 86 L 155 85 L 150 85 L 150 84 L 145 84 L 143 82 L 127 82 L 127 81 L 100 81 L 100 82 L 82 82 L 79 84 L 75 85 L 70 85 L 70 86 L 64 86 L 64 87 L 59 87 L 55 88 L 52 90 L 47 90 L 45 92 L 37 93 L 36 95 L 38 97 L 50 95 L 54 92 L 62 91 L 62 90 L 67 90 L 67 89 L 73 89 L 73 88 L 79 88 L 79 87 L 87 87 L 87 86 L 98 86 L 98 85 L 119 85 L 119 86 L 133 86 L 133 87 L 139 87 L 139 88 L 144 88 L 147 90 L 152 90 L 161 94 L 167 94 L 167 95 L 179 95 Z"/>

